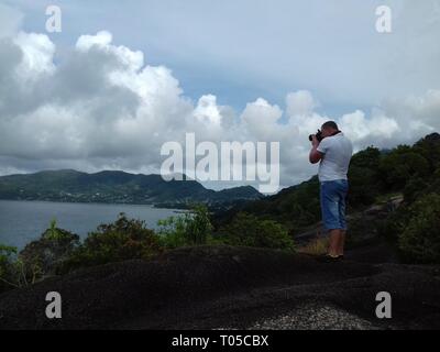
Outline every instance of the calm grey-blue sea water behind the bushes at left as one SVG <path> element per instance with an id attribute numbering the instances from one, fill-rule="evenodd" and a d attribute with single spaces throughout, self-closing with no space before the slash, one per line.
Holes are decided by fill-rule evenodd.
<path id="1" fill-rule="evenodd" d="M 41 237 L 53 218 L 58 228 L 85 238 L 100 223 L 117 220 L 120 212 L 145 220 L 151 229 L 157 228 L 157 220 L 180 213 L 179 210 L 138 205 L 0 200 L 0 243 L 23 249 Z"/>

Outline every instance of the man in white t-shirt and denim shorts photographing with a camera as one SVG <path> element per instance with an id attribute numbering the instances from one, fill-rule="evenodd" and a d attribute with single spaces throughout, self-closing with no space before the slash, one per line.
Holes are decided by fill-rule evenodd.
<path id="1" fill-rule="evenodd" d="M 349 190 L 346 173 L 353 154 L 352 143 L 333 121 L 321 127 L 322 141 L 312 136 L 310 163 L 319 164 L 322 222 L 330 234 L 326 261 L 343 258 L 345 243 L 345 199 Z"/>

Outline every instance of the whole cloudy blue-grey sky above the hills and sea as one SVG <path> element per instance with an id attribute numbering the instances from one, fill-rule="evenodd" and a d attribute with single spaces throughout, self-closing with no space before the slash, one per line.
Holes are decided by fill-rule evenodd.
<path id="1" fill-rule="evenodd" d="M 279 142 L 295 185 L 328 120 L 355 151 L 440 131 L 439 37 L 440 0 L 0 0 L 0 175 L 158 173 L 162 145 L 194 132 Z"/>

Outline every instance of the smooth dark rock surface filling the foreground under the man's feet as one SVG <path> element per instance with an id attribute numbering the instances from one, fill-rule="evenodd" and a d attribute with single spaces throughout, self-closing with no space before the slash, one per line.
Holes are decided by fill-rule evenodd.
<path id="1" fill-rule="evenodd" d="M 375 317 L 378 292 L 393 319 Z M 45 316 L 48 292 L 63 318 Z M 0 329 L 440 328 L 440 268 L 320 263 L 275 250 L 183 248 L 81 270 L 0 296 Z"/>

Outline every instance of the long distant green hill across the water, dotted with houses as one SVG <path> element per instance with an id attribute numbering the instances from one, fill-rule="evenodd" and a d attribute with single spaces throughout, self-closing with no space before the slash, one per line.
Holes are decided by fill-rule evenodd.
<path id="1" fill-rule="evenodd" d="M 215 191 L 196 180 L 165 182 L 160 175 L 134 175 L 116 170 L 87 174 L 62 169 L 0 177 L 0 199 L 13 200 L 147 204 L 167 207 L 205 202 L 220 207 L 261 197 L 263 196 L 253 187 Z"/>

